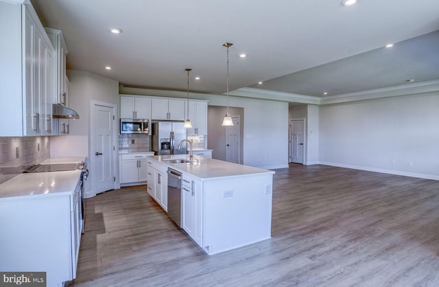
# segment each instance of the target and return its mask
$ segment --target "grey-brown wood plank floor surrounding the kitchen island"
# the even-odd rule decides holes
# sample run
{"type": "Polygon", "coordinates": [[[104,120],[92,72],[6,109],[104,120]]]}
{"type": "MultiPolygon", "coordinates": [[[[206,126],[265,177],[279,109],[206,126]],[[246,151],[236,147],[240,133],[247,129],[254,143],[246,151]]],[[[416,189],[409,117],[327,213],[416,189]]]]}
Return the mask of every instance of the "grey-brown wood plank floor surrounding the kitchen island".
{"type": "Polygon", "coordinates": [[[71,286],[439,286],[439,182],[276,170],[272,239],[209,256],[145,185],[86,199],[71,286]]]}

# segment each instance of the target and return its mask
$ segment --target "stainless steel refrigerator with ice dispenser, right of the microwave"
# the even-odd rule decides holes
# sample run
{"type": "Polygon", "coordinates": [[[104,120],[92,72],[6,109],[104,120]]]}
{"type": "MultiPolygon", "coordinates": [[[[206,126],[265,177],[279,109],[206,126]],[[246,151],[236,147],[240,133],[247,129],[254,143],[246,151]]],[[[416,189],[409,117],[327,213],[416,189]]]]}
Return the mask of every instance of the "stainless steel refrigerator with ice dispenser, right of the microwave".
{"type": "Polygon", "coordinates": [[[186,141],[178,149],[180,141],[187,137],[187,128],[183,125],[183,122],[153,122],[152,150],[154,154],[187,154],[186,141]]]}

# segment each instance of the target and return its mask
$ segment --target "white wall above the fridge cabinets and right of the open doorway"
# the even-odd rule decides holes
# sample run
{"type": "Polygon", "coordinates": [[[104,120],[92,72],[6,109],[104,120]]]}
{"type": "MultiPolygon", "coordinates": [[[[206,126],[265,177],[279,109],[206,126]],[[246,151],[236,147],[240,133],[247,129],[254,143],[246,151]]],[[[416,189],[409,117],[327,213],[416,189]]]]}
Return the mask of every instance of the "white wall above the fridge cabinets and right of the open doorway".
{"type": "MultiPolygon", "coordinates": [[[[120,93],[187,97],[187,93],[183,92],[136,88],[121,88],[120,93]]],[[[226,105],[224,95],[191,93],[190,97],[209,100],[209,105],[212,106],[226,105]]],[[[229,106],[244,108],[244,164],[266,169],[287,168],[288,103],[248,97],[229,97],[229,106]]]]}

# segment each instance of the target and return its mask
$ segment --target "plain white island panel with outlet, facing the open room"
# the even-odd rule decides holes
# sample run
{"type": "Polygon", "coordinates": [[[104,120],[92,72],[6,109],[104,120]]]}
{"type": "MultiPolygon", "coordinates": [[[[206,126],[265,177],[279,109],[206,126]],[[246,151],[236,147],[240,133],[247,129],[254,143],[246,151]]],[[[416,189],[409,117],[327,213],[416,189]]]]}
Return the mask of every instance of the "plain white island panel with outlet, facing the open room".
{"type": "Polygon", "coordinates": [[[203,202],[209,255],[271,238],[272,174],[205,181],[203,202]]]}

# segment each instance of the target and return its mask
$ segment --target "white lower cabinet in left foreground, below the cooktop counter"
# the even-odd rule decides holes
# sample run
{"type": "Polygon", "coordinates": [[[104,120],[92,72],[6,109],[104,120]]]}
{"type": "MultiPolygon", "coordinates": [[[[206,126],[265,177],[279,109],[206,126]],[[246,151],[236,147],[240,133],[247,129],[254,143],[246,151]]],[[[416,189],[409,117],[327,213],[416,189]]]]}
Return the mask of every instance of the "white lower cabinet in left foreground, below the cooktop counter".
{"type": "Polygon", "coordinates": [[[80,179],[73,194],[7,199],[0,200],[0,270],[45,271],[47,286],[75,279],[83,228],[80,179]]]}

